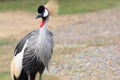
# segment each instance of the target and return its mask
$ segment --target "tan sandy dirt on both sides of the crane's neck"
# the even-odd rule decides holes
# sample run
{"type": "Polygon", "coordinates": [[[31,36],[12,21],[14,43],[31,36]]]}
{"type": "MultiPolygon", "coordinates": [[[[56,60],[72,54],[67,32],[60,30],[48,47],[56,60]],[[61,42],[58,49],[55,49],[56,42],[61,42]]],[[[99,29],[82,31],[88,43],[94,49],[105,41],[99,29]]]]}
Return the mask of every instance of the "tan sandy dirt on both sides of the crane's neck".
{"type": "MultiPolygon", "coordinates": [[[[38,29],[41,20],[35,19],[36,15],[30,15],[23,12],[0,13],[0,38],[8,36],[24,36],[26,33],[38,29]]],[[[74,17],[60,16],[50,19],[49,29],[76,22],[74,17]]]]}

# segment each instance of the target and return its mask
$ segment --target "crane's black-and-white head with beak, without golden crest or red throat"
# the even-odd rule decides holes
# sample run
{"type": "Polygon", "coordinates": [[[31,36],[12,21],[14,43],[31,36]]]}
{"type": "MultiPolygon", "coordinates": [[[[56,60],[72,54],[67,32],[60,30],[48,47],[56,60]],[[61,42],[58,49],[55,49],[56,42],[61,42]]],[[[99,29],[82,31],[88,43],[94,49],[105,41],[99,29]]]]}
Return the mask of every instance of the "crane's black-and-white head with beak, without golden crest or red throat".
{"type": "Polygon", "coordinates": [[[42,18],[43,20],[46,19],[49,16],[49,11],[46,7],[43,5],[38,7],[38,15],[36,16],[36,19],[42,18]]]}

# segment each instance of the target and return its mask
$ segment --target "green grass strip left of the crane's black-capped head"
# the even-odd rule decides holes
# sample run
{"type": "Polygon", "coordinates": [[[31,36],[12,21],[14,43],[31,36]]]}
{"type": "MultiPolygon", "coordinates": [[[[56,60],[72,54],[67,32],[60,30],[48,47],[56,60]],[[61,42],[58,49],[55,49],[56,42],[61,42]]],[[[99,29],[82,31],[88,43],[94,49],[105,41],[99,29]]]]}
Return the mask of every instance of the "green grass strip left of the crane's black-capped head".
{"type": "Polygon", "coordinates": [[[0,2],[0,11],[36,11],[46,0],[5,0],[0,2]]]}

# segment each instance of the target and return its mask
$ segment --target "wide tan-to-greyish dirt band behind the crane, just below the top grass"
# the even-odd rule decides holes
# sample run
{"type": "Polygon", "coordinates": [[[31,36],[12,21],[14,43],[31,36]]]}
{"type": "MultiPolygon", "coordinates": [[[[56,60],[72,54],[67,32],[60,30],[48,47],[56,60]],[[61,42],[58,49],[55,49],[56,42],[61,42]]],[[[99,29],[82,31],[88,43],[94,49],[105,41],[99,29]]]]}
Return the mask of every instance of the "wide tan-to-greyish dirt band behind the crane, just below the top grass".
{"type": "MultiPolygon", "coordinates": [[[[88,14],[51,17],[49,27],[59,44],[81,43],[85,40],[117,38],[120,35],[120,8],[88,14]]],[[[36,16],[36,15],[35,15],[36,16]]],[[[40,19],[23,12],[0,13],[0,38],[21,38],[39,28],[40,19]]]]}

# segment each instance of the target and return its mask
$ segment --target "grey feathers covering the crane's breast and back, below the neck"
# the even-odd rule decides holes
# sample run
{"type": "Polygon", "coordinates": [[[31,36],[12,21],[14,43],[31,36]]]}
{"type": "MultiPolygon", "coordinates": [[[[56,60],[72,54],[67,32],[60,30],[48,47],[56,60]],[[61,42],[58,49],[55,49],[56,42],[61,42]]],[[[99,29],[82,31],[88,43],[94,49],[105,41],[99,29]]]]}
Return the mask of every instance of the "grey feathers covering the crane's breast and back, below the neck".
{"type": "Polygon", "coordinates": [[[48,69],[48,63],[54,47],[52,32],[41,29],[29,33],[18,43],[15,49],[15,55],[18,51],[22,50],[22,47],[24,46],[23,44],[26,40],[28,40],[28,44],[24,52],[23,69],[25,69],[29,74],[34,71],[34,68],[32,67],[35,67],[40,63],[43,63],[48,69]]]}

